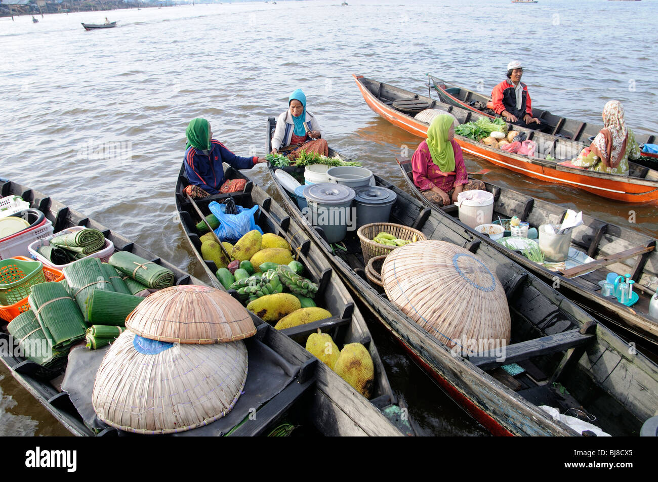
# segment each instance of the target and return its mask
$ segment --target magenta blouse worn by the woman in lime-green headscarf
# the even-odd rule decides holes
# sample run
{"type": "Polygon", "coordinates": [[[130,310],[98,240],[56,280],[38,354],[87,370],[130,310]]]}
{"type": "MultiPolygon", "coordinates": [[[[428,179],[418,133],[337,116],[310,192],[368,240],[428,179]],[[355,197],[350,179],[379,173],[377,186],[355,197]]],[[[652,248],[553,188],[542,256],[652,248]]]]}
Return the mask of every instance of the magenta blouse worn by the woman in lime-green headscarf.
{"type": "Polygon", "coordinates": [[[448,176],[443,176],[439,166],[432,161],[430,149],[427,147],[427,141],[422,141],[416,152],[411,158],[411,168],[413,170],[413,182],[421,191],[428,191],[436,186],[449,192],[453,187],[468,184],[466,166],[464,157],[461,154],[461,147],[453,139],[450,141],[455,151],[455,172],[448,176]]]}

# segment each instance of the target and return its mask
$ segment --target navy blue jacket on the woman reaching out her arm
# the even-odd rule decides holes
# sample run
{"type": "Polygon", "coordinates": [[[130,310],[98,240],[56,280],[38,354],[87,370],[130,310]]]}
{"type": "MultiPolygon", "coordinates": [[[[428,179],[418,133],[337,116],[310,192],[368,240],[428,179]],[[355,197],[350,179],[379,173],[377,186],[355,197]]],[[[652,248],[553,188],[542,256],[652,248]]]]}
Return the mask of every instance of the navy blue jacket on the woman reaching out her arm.
{"type": "Polygon", "coordinates": [[[239,157],[226,149],[220,141],[211,139],[211,143],[213,149],[208,156],[193,146],[185,151],[185,174],[190,184],[201,187],[209,194],[217,194],[224,183],[222,162],[236,169],[251,169],[258,162],[258,157],[239,157]]]}

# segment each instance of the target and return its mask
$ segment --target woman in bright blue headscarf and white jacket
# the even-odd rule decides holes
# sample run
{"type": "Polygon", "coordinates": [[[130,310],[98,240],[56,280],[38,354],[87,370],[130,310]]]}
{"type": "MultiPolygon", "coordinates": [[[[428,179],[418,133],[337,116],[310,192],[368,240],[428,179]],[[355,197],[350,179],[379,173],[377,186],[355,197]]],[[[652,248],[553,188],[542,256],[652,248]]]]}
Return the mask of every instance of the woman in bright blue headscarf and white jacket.
{"type": "Polygon", "coordinates": [[[297,157],[301,150],[328,155],[329,147],[322,137],[320,124],[311,112],[306,110],[306,96],[301,89],[295,90],[288,98],[288,110],[276,121],[272,136],[272,154],[297,157]]]}

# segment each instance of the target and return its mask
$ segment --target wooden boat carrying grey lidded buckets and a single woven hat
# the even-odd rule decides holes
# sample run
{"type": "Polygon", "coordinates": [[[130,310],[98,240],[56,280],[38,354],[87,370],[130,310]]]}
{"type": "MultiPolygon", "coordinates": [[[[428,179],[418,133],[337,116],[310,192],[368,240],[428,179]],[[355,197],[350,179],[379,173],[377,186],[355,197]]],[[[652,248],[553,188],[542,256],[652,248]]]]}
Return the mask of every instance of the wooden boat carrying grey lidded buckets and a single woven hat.
{"type": "MultiPolygon", "coordinates": [[[[267,139],[275,125],[274,118],[270,118],[267,139]]],[[[268,141],[266,149],[269,146],[268,141]]],[[[330,150],[330,155],[337,153],[330,150]]],[[[274,174],[271,167],[270,173],[274,174]]],[[[293,170],[290,173],[295,175],[293,170]]],[[[630,356],[628,345],[619,336],[523,266],[482,243],[469,229],[457,229],[447,216],[375,176],[378,185],[397,195],[390,222],[418,229],[428,239],[467,247],[495,272],[505,287],[512,318],[513,344],[507,347],[504,363],[515,362],[526,370],[513,380],[490,359],[451,354],[368,283],[361,244],[354,231],[348,231],[342,243],[347,253],[342,249],[334,253],[321,229],[311,226],[278,178],[272,175],[272,180],[291,217],[322,247],[355,296],[372,309],[444,391],[492,433],[577,435],[540,410],[538,405],[542,404],[559,406],[561,412],[578,407],[594,415],[595,423],[611,435],[637,435],[642,423],[653,416],[658,403],[658,367],[640,353],[630,356]],[[568,400],[561,398],[563,394],[555,396],[555,387],[564,387],[570,394],[568,400]]]]}

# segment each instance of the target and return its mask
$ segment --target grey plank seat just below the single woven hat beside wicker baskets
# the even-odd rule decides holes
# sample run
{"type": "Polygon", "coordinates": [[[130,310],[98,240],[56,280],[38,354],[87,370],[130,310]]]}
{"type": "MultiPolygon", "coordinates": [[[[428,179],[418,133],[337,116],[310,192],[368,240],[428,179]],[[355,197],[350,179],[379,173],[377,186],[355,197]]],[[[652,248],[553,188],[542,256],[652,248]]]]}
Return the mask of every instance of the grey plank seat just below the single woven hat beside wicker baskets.
{"type": "Polygon", "coordinates": [[[580,333],[579,329],[556,333],[542,338],[522,341],[507,345],[505,347],[505,356],[503,359],[497,359],[496,356],[469,356],[468,361],[472,362],[481,370],[491,370],[497,366],[528,360],[534,356],[555,353],[569,350],[580,345],[584,345],[594,338],[594,334],[580,333]]]}

